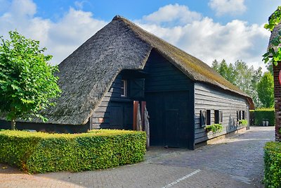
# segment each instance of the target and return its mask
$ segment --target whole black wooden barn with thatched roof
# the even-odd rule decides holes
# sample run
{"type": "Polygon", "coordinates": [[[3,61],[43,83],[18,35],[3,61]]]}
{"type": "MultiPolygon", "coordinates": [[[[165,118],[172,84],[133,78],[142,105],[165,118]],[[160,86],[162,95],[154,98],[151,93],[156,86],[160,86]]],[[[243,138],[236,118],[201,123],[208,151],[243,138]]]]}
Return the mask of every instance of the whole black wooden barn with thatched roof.
{"type": "MultiPolygon", "coordinates": [[[[195,149],[197,144],[246,129],[251,98],[198,58],[115,16],[59,65],[63,93],[57,105],[19,129],[84,132],[133,130],[133,104],[146,105],[150,143],[195,149]],[[223,125],[222,132],[205,126],[223,125]]],[[[1,121],[0,125],[7,125],[1,121]]]]}

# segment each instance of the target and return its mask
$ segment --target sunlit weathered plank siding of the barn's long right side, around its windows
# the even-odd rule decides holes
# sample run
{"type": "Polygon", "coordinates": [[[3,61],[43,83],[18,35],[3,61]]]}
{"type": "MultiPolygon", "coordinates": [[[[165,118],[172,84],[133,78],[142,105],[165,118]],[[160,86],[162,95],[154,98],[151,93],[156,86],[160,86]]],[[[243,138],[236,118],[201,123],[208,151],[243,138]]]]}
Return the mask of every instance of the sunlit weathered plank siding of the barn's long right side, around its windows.
{"type": "Polygon", "coordinates": [[[245,111],[249,122],[249,104],[242,96],[222,92],[207,84],[195,83],[195,144],[218,137],[241,128],[237,125],[237,111],[245,111]],[[200,111],[211,110],[211,124],[214,123],[214,110],[223,112],[223,131],[212,134],[200,125],[200,111]]]}

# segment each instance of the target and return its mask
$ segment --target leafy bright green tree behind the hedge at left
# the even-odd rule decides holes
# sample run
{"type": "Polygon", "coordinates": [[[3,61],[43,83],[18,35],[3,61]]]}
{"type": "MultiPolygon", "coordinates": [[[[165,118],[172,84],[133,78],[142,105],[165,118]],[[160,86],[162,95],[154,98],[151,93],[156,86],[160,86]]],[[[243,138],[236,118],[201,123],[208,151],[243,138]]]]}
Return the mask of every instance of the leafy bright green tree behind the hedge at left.
{"type": "Polygon", "coordinates": [[[9,32],[11,41],[0,37],[0,111],[15,129],[16,118],[41,118],[39,112],[54,105],[60,89],[53,73],[57,66],[47,63],[52,56],[44,56],[46,48],[18,32],[9,32]]]}

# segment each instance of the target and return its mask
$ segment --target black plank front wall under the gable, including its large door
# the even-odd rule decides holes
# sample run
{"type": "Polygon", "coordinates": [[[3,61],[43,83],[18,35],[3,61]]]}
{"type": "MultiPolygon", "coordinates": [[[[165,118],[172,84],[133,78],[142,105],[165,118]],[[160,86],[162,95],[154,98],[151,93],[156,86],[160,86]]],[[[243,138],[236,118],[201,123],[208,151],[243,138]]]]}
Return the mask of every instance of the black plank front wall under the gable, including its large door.
{"type": "Polygon", "coordinates": [[[151,144],[193,149],[193,82],[157,51],[151,52],[144,72],[151,144]]]}

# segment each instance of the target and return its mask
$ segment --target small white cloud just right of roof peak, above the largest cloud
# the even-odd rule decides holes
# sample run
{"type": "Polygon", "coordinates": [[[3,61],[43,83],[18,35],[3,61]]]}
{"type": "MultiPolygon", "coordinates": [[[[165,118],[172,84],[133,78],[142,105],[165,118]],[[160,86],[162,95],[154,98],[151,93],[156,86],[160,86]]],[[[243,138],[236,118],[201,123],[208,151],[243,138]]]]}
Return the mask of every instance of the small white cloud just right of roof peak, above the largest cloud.
{"type": "Polygon", "coordinates": [[[143,20],[151,23],[186,24],[193,20],[200,20],[201,17],[200,13],[190,11],[188,6],[169,4],[159,8],[158,11],[150,15],[143,16],[143,20]]]}

